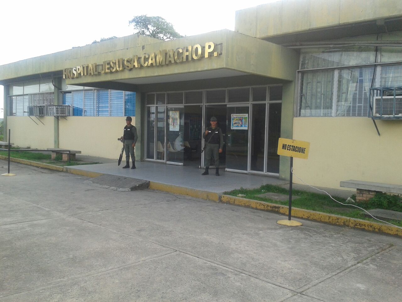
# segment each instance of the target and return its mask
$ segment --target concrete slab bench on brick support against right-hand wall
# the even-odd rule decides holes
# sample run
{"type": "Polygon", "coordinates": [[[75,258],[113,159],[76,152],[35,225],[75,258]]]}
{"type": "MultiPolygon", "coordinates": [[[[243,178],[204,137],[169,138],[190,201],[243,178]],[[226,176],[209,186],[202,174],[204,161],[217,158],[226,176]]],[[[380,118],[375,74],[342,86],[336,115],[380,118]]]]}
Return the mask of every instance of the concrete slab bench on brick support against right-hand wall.
{"type": "Polygon", "coordinates": [[[340,182],[344,188],[356,188],[356,201],[368,201],[377,192],[402,194],[402,185],[382,184],[380,182],[364,182],[361,180],[346,180],[340,182]]]}

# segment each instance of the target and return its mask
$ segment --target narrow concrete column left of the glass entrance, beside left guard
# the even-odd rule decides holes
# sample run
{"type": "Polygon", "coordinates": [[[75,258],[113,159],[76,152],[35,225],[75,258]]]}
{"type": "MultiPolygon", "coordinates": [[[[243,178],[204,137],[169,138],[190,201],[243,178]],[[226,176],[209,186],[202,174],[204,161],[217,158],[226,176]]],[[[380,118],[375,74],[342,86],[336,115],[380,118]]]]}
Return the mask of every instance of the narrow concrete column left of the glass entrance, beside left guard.
{"type": "Polygon", "coordinates": [[[144,161],[145,158],[145,99],[144,94],[135,93],[135,128],[137,128],[138,140],[135,144],[135,160],[144,161]]]}

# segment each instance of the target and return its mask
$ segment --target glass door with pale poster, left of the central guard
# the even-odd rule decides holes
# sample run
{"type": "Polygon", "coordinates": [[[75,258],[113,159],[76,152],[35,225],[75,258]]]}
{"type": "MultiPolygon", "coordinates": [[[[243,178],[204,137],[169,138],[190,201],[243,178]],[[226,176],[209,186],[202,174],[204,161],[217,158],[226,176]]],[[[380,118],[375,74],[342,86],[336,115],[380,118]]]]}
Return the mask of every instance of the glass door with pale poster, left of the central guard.
{"type": "Polygon", "coordinates": [[[168,106],[166,111],[166,163],[183,165],[184,107],[168,106]]]}

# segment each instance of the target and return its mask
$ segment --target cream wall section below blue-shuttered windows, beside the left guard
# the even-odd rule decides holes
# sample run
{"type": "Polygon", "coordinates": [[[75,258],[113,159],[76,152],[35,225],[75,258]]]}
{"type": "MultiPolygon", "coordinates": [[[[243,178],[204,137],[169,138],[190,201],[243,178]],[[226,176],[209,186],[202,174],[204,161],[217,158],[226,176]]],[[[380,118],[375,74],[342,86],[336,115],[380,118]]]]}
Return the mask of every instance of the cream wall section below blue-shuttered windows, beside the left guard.
{"type": "MultiPolygon", "coordinates": [[[[132,124],[135,124],[133,118],[132,124]]],[[[82,155],[119,158],[126,125],[124,116],[69,116],[59,121],[59,147],[81,151],[82,155]]],[[[52,138],[53,139],[53,138],[52,138]]]]}

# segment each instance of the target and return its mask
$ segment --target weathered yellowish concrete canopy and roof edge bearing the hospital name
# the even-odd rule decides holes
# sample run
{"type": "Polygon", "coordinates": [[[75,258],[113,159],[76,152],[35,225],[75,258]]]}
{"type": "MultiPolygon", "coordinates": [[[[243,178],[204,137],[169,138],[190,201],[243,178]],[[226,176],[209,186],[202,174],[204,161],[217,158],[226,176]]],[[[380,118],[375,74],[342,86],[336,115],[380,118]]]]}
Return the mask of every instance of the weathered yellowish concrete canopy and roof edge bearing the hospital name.
{"type": "Polygon", "coordinates": [[[143,85],[250,74],[293,81],[299,63],[294,50],[227,29],[170,41],[140,37],[131,35],[3,65],[0,81],[49,72],[61,72],[68,85],[88,87],[105,82],[143,85]],[[189,52],[186,60],[183,52],[189,52]]]}

